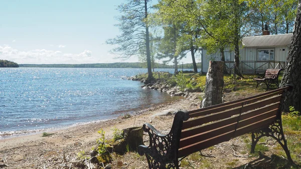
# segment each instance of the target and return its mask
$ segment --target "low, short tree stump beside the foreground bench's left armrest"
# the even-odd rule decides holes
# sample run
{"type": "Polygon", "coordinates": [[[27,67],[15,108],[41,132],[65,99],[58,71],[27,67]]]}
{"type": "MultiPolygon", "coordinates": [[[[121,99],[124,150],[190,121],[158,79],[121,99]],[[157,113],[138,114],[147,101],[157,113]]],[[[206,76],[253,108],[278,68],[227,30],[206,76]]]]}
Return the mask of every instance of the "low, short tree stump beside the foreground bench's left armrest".
{"type": "Polygon", "coordinates": [[[116,140],[113,151],[123,154],[126,151],[137,151],[137,147],[143,144],[142,127],[130,127],[122,130],[123,138],[116,140]]]}

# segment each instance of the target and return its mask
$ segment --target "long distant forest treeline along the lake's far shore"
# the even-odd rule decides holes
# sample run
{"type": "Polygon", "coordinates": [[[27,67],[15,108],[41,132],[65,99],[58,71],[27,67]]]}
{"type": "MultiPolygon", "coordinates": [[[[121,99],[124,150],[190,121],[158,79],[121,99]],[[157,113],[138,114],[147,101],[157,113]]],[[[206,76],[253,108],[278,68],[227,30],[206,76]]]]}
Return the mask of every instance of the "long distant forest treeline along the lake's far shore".
{"type": "MultiPolygon", "coordinates": [[[[146,68],[145,63],[125,62],[125,63],[93,63],[93,64],[20,64],[20,67],[41,67],[41,68],[146,68]]],[[[201,67],[201,63],[198,63],[201,67]]],[[[157,69],[172,69],[174,65],[156,63],[157,69]]],[[[182,65],[181,67],[182,68],[182,65]]],[[[193,64],[183,64],[184,69],[193,69],[193,64]]]]}

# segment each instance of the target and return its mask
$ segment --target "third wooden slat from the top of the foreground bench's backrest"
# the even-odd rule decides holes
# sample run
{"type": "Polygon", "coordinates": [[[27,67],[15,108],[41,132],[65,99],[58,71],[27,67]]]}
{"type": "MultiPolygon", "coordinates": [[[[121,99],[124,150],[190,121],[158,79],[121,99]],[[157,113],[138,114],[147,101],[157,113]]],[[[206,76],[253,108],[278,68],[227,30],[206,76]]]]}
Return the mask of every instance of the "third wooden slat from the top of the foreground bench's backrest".
{"type": "MultiPolygon", "coordinates": [[[[252,115],[258,115],[258,114],[261,114],[262,112],[266,112],[266,111],[278,108],[279,103],[280,102],[276,102],[276,103],[273,103],[269,106],[261,107],[259,109],[256,109],[253,112],[244,113],[240,116],[240,119],[244,120],[244,119],[247,119],[247,118],[251,117],[252,115]]],[[[181,138],[190,137],[190,136],[196,135],[198,133],[202,133],[202,132],[205,132],[205,131],[212,130],[214,128],[222,127],[226,124],[235,123],[235,122],[237,122],[236,117],[237,116],[229,117],[229,118],[219,120],[219,121],[216,121],[216,122],[213,122],[213,123],[208,123],[208,124],[205,124],[205,125],[201,125],[201,126],[198,126],[196,128],[190,128],[190,129],[182,130],[181,138]]]]}

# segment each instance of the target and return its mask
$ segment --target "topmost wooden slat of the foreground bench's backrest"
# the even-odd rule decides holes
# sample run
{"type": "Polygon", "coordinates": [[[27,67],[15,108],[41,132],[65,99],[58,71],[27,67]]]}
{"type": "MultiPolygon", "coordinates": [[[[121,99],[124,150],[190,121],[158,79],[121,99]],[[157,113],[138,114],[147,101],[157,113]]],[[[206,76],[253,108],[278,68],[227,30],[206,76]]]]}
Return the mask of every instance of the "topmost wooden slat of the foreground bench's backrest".
{"type": "Polygon", "coordinates": [[[240,100],[239,102],[233,102],[232,104],[227,104],[227,105],[224,105],[224,106],[221,104],[220,106],[213,107],[211,109],[209,109],[209,108],[199,109],[198,112],[190,111],[189,116],[190,116],[190,118],[193,118],[193,117],[198,117],[198,116],[201,116],[201,115],[207,115],[207,114],[211,114],[211,113],[214,113],[214,112],[223,111],[223,110],[226,110],[226,109],[241,106],[241,104],[243,104],[244,102],[253,103],[253,102],[256,102],[258,100],[263,100],[263,99],[272,97],[274,95],[281,94],[282,92],[283,92],[283,90],[274,91],[274,92],[271,92],[271,93],[268,93],[268,94],[265,94],[265,95],[252,97],[252,98],[249,98],[247,100],[242,100],[242,101],[240,100]]]}

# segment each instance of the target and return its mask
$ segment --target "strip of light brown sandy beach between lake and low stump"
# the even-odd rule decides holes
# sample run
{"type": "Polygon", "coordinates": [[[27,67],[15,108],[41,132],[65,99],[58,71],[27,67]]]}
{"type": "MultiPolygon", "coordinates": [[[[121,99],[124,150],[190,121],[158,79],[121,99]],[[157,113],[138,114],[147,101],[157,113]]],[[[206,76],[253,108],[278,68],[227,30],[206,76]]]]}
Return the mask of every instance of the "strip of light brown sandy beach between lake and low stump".
{"type": "Polygon", "coordinates": [[[4,168],[61,168],[59,161],[53,159],[65,158],[68,161],[75,161],[78,152],[89,152],[96,145],[101,128],[105,131],[105,137],[112,137],[112,128],[128,128],[142,126],[151,122],[163,133],[169,132],[173,121],[173,115],[167,112],[177,110],[196,109],[199,100],[183,98],[181,100],[157,105],[148,109],[136,112],[127,119],[112,119],[102,122],[77,125],[67,129],[51,131],[51,136],[42,137],[42,133],[13,137],[0,140],[0,163],[8,166],[4,168]],[[192,103],[196,103],[192,105],[192,103]],[[163,115],[165,114],[165,115],[163,115]]]}

